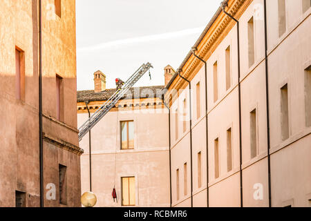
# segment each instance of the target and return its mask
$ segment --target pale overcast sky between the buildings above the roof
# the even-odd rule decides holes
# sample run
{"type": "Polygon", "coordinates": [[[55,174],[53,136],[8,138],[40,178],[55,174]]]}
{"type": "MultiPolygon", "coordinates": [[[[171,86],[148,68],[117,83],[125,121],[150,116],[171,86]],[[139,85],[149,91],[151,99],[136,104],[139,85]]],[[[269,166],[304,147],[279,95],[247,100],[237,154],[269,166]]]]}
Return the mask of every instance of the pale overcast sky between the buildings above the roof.
{"type": "Polygon", "coordinates": [[[221,0],[76,0],[77,90],[93,90],[102,70],[107,88],[126,81],[148,61],[152,79],[135,86],[164,85],[163,68],[177,69],[221,0]]]}

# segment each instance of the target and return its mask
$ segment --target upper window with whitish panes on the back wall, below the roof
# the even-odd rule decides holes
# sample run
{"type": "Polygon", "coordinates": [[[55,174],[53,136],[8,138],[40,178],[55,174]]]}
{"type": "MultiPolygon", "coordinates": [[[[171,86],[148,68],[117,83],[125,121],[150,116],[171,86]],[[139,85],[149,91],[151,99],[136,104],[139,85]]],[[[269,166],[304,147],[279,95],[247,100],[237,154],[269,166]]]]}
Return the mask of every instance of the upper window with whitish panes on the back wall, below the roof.
{"type": "Polygon", "coordinates": [[[121,149],[134,148],[134,122],[121,122],[121,149]]]}

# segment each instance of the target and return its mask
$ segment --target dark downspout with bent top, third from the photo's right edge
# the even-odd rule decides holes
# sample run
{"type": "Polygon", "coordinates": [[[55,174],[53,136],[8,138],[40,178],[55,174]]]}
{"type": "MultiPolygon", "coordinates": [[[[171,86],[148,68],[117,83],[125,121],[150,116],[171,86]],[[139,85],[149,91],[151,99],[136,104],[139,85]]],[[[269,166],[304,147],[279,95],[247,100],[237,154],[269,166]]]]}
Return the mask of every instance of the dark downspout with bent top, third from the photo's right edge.
{"type": "Polygon", "coordinates": [[[196,55],[196,51],[198,49],[195,47],[192,47],[192,54],[194,55],[194,57],[196,57],[197,59],[199,59],[200,61],[202,61],[204,63],[205,66],[205,115],[206,115],[206,168],[207,168],[207,180],[206,180],[206,185],[207,185],[207,207],[209,207],[209,133],[208,133],[208,116],[207,116],[207,62],[205,60],[203,60],[202,58],[200,58],[198,55],[196,55]]]}

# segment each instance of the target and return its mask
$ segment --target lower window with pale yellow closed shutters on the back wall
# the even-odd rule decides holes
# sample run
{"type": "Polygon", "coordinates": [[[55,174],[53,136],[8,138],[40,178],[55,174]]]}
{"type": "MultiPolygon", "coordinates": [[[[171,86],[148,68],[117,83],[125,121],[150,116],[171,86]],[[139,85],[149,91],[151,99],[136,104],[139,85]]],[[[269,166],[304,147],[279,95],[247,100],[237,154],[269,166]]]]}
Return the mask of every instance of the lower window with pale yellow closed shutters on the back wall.
{"type": "Polygon", "coordinates": [[[135,177],[122,177],[122,206],[135,206],[135,177]]]}

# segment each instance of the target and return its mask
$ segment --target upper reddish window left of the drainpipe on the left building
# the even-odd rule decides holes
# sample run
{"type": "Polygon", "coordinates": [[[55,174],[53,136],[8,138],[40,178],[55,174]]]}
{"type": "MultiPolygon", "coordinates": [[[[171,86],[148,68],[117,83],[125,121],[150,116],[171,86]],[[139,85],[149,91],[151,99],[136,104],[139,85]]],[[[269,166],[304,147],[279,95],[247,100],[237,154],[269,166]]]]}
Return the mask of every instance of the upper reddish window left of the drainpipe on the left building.
{"type": "Polygon", "coordinates": [[[24,52],[15,48],[15,88],[16,88],[16,99],[25,99],[25,58],[24,52]]]}

